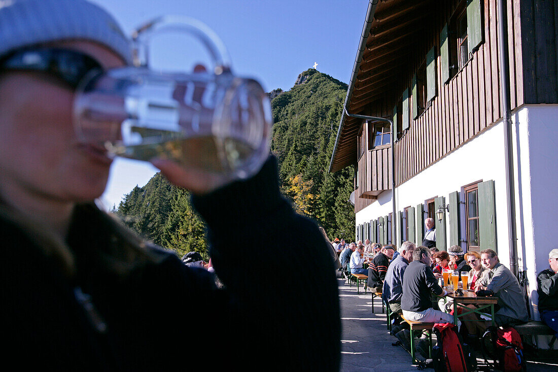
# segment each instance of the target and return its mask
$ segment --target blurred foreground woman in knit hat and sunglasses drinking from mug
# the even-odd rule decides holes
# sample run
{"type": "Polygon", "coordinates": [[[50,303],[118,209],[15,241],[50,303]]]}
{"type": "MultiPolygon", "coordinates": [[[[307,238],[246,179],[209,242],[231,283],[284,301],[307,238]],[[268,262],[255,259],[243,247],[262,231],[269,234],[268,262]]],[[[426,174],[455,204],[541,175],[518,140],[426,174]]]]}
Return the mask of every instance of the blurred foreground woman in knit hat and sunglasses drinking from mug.
{"type": "Polygon", "coordinates": [[[225,289],[97,208],[112,159],[76,141],[74,92],[93,70],[130,61],[128,39],[92,3],[0,2],[4,363],[21,370],[171,370],[184,365],[187,352],[210,361],[204,370],[338,370],[330,248],[281,197],[275,159],[253,178],[212,192],[189,170],[156,164],[197,194],[193,203],[208,225],[225,289]],[[243,236],[267,245],[246,260],[243,236]],[[300,241],[322,270],[300,282],[293,273],[304,271],[305,256],[299,245],[283,247],[283,236],[300,241]],[[218,358],[212,345],[219,345],[218,358]]]}

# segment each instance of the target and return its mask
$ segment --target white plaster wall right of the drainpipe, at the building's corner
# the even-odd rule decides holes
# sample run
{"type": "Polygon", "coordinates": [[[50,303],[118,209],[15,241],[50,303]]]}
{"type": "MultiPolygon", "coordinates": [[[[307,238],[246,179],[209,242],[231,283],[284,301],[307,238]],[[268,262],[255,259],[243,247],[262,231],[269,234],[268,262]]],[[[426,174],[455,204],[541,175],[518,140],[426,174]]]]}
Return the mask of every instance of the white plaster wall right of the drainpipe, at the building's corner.
{"type": "MultiPolygon", "coordinates": [[[[527,106],[514,119],[519,269],[527,270],[536,304],[536,277],[549,268],[549,251],[558,247],[558,105],[527,106]]],[[[536,306],[535,311],[538,319],[536,306]]]]}

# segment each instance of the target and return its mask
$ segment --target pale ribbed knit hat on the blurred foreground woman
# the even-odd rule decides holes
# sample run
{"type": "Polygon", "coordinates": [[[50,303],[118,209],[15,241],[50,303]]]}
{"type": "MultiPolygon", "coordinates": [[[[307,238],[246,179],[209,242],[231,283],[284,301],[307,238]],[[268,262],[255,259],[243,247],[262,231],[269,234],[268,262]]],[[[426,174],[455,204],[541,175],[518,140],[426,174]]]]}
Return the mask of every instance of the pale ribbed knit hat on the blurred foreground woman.
{"type": "Polygon", "coordinates": [[[104,9],[84,0],[0,0],[0,56],[57,40],[91,40],[132,61],[129,39],[104,9]]]}

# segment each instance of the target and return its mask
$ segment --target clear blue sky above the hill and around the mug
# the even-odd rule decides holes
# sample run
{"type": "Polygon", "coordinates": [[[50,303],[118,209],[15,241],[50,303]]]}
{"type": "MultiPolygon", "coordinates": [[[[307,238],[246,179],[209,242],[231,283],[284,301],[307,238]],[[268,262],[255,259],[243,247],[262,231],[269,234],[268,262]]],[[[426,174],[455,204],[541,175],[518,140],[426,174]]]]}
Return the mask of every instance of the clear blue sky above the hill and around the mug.
{"type": "MultiPolygon", "coordinates": [[[[266,91],[288,90],[297,75],[318,70],[348,83],[368,0],[90,0],[114,15],[124,31],[161,15],[182,15],[208,25],[223,40],[235,74],[256,78],[266,91]]],[[[157,70],[191,70],[210,64],[190,36],[153,39],[151,65],[157,70]]],[[[140,161],[117,159],[102,201],[118,206],[134,186],[157,170],[140,161]]]]}

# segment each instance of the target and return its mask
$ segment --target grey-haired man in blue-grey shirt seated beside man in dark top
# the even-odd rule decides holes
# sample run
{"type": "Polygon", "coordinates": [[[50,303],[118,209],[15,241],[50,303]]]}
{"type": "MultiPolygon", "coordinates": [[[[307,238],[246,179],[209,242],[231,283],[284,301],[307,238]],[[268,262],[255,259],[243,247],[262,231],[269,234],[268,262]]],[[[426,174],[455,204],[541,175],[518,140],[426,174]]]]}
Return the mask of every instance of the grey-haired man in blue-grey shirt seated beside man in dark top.
{"type": "Polygon", "coordinates": [[[403,295],[403,274],[408,264],[413,260],[416,245],[406,241],[399,249],[399,255],[393,259],[387,268],[386,278],[382,288],[382,297],[389,304],[394,313],[401,314],[401,296],[403,295]]]}

